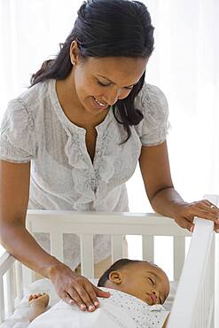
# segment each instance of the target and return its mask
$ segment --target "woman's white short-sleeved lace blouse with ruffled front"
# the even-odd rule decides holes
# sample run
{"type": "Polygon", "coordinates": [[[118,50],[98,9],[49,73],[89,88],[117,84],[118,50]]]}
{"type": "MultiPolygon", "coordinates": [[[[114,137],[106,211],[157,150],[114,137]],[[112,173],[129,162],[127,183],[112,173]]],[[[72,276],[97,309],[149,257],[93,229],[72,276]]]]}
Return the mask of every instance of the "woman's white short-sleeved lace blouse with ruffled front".
{"type": "MultiPolygon", "coordinates": [[[[144,84],[135,100],[144,119],[130,127],[129,141],[112,109],[97,127],[93,163],[85,129],[69,121],[59,104],[56,80],[36,84],[13,99],[4,113],[0,159],[31,161],[28,208],[74,211],[129,211],[125,183],[133,175],[141,146],[161,144],[168,130],[168,103],[162,91],[144,84]]],[[[46,250],[46,234],[35,234],[46,250]]],[[[73,269],[80,262],[79,238],[64,236],[64,257],[73,269]]],[[[94,238],[95,262],[110,254],[110,239],[94,238]]]]}

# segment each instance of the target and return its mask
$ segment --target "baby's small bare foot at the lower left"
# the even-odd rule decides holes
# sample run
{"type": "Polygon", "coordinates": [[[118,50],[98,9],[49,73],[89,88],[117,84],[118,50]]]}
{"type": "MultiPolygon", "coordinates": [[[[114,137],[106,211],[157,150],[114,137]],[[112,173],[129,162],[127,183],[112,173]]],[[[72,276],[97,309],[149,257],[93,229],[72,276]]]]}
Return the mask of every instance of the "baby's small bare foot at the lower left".
{"type": "Polygon", "coordinates": [[[28,319],[30,322],[35,320],[37,316],[43,314],[46,311],[46,307],[49,303],[48,293],[37,293],[29,296],[28,299],[30,310],[28,313],[28,319]]]}

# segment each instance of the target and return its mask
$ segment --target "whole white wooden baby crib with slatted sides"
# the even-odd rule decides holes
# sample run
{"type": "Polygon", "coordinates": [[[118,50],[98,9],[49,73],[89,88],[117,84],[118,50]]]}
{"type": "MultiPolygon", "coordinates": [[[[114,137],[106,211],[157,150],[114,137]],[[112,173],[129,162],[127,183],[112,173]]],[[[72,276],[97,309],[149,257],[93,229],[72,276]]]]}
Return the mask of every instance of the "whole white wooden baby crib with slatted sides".
{"type": "MultiPolygon", "coordinates": [[[[217,203],[217,199],[209,198],[217,203]]],[[[63,233],[81,237],[82,275],[93,277],[93,234],[112,235],[112,262],[122,258],[124,235],[141,235],[143,259],[153,261],[154,236],[173,236],[174,280],[179,280],[168,328],[217,328],[215,325],[215,233],[213,223],[196,219],[193,234],[157,214],[27,212],[27,229],[49,232],[51,254],[63,260],[63,233]],[[185,237],[192,236],[185,257],[185,237]]],[[[0,324],[20,303],[33,272],[7,252],[0,258],[0,324]],[[5,288],[6,286],[6,288],[5,288]],[[7,300],[7,302],[5,302],[7,300]],[[5,305],[6,304],[6,305],[5,305]]]]}

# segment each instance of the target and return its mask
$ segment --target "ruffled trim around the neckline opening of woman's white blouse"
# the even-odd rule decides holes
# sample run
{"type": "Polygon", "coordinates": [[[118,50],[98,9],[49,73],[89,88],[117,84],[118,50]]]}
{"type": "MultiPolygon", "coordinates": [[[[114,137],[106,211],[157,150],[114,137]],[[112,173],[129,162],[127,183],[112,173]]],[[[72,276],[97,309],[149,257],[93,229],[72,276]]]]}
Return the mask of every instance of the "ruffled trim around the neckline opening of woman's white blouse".
{"type": "MultiPolygon", "coordinates": [[[[119,146],[121,137],[113,121],[108,121],[108,124],[111,125],[110,134],[107,133],[104,123],[105,121],[98,126],[98,130],[102,129],[106,135],[99,137],[101,141],[98,141],[97,144],[100,144],[101,148],[95,154],[94,165],[92,165],[88,153],[82,153],[81,146],[84,143],[82,129],[78,132],[66,129],[68,139],[65,152],[68,163],[72,167],[74,190],[78,194],[78,198],[74,199],[74,208],[77,210],[82,210],[82,204],[93,202],[96,199],[105,199],[108,194],[107,184],[114,176],[114,158],[121,150],[119,146]]],[[[109,126],[107,128],[109,129],[109,126]]],[[[101,132],[99,133],[101,134],[101,132]]]]}

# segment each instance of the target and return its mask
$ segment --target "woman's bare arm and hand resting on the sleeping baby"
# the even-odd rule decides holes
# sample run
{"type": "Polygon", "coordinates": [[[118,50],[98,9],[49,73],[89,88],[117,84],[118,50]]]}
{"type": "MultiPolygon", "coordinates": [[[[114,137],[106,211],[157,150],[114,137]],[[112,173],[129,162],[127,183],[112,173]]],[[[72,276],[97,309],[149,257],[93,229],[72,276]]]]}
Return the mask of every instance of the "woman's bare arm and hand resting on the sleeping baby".
{"type": "Polygon", "coordinates": [[[92,311],[98,306],[97,296],[109,297],[110,294],[46,253],[26,229],[29,179],[30,163],[0,160],[0,242],[28,268],[49,277],[61,299],[75,302],[84,310],[92,307],[92,311]]]}

